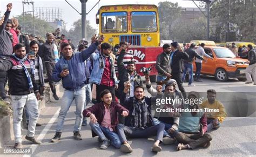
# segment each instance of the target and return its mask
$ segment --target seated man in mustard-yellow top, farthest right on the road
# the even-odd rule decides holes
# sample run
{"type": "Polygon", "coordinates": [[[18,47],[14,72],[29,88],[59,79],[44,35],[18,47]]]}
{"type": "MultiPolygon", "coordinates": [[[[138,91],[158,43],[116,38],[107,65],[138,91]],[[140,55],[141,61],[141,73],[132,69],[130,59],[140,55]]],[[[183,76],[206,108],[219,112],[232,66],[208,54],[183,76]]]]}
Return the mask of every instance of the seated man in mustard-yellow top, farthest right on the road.
{"type": "Polygon", "coordinates": [[[216,91],[215,90],[208,90],[207,91],[207,99],[205,100],[200,107],[201,108],[210,108],[210,109],[217,109],[219,112],[211,112],[206,113],[207,116],[207,127],[208,131],[211,131],[211,129],[218,129],[220,127],[220,124],[224,121],[225,117],[227,116],[227,113],[225,111],[225,107],[220,101],[215,100],[216,99],[216,91]]]}

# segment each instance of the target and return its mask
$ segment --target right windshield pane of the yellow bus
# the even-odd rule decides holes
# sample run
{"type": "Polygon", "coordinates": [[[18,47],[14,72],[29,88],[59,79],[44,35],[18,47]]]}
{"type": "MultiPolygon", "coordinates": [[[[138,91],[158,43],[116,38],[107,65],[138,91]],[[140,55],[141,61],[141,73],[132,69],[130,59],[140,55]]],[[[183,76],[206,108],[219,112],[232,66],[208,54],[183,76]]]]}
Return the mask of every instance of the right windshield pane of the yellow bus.
{"type": "Polygon", "coordinates": [[[132,32],[156,32],[157,18],[154,11],[133,11],[132,32]]]}

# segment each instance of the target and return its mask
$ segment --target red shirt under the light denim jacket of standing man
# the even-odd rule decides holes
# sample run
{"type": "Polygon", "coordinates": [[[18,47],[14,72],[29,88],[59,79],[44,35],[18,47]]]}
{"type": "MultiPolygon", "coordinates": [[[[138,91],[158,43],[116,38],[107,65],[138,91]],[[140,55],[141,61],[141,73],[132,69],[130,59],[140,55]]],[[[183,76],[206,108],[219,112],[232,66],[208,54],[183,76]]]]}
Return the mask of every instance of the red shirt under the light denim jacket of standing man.
{"type": "Polygon", "coordinates": [[[114,80],[111,78],[111,64],[109,57],[105,58],[105,67],[100,84],[110,87],[114,86],[114,80]]]}

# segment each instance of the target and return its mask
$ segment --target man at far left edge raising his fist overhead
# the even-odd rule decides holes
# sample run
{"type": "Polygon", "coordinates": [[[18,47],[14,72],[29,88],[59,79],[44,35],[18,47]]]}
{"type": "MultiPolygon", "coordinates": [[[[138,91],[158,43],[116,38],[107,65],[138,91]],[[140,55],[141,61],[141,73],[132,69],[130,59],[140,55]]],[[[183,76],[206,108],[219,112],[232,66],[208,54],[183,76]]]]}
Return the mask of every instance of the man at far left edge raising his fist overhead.
{"type": "MultiPolygon", "coordinates": [[[[4,23],[0,25],[0,62],[8,59],[12,54],[12,44],[9,37],[8,31],[5,28],[11,29],[11,24],[7,23],[12,9],[12,3],[9,3],[6,6],[7,10],[4,13],[4,23]]],[[[0,73],[0,96],[5,101],[5,103],[11,104],[10,100],[5,94],[5,85],[6,85],[6,71],[0,73]]]]}

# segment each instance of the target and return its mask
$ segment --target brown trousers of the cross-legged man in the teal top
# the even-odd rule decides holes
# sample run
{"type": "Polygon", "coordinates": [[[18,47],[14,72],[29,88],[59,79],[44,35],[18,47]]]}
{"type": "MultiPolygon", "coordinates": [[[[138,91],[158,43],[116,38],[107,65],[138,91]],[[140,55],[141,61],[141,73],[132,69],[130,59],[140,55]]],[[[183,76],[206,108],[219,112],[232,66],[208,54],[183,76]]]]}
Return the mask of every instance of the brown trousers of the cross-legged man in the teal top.
{"type": "Polygon", "coordinates": [[[178,132],[175,138],[180,143],[190,145],[191,149],[203,147],[205,144],[207,144],[212,140],[212,136],[207,133],[201,136],[199,134],[194,134],[194,133],[178,132]]]}

